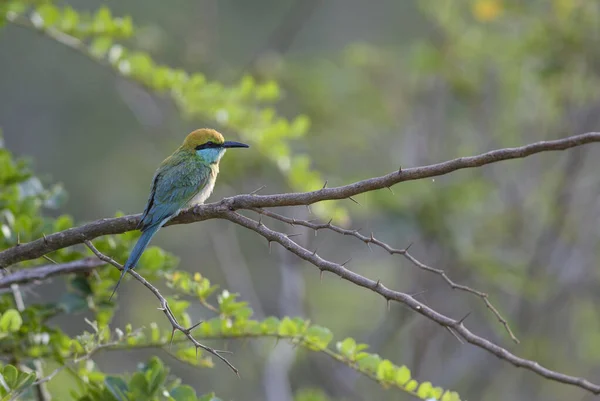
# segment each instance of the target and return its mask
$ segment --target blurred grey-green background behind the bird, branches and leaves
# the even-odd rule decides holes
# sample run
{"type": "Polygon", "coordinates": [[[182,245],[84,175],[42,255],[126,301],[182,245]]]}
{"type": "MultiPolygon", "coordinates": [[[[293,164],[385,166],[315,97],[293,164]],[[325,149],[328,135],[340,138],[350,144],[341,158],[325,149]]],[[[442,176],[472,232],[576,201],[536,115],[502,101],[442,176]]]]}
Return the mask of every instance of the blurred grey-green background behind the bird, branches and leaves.
{"type": "MultiPolygon", "coordinates": [[[[277,113],[310,121],[305,134],[285,139],[291,153],[304,155],[329,186],[600,125],[595,0],[65,4],[77,10],[107,5],[114,15],[131,15],[137,29],[128,45],[160,63],[223,85],[244,75],[276,81],[277,113]]],[[[0,71],[6,146],[31,158],[45,182],[63,185],[69,196],[60,212],[78,222],[141,212],[155,168],[194,128],[211,126],[254,143],[250,125],[233,129],[215,114],[186,115],[169,96],[18,26],[0,33],[0,71]]],[[[279,140],[228,152],[211,199],[262,185],[262,193],[308,189],[308,175],[290,178],[281,160],[266,156],[279,140]]],[[[312,211],[323,219],[336,213],[341,224],[373,231],[395,247],[413,243],[422,262],[489,293],[518,345],[480,299],[451,290],[401,257],[370,251],[353,238],[269,224],[303,233],[300,243],[331,260],[352,257],[352,270],[389,287],[422,292],[420,300],[442,313],[460,318],[470,312],[469,327],[519,356],[594,381],[600,374],[599,156],[594,145],[541,154],[402,183],[393,193],[358,196],[360,206],[345,201],[331,206],[335,212],[312,211]]],[[[315,217],[306,208],[284,212],[315,217]]],[[[373,352],[409,366],[417,379],[464,399],[593,398],[461,344],[401,305],[388,309],[367,290],[327,274],[320,281],[314,266],[276,245],[269,252],[264,239],[226,221],[164,229],[154,244],[177,255],[183,269],[240,293],[256,316],[309,318],[338,339],[369,343],[373,352]]],[[[55,299],[63,288],[54,280],[37,287],[36,297],[55,299]]],[[[127,281],[115,323],[162,321],[154,303],[142,286],[127,281]]],[[[200,305],[192,311],[195,318],[210,316],[200,305]]],[[[71,334],[85,327],[82,316],[55,324],[71,334]]],[[[225,346],[235,351],[231,359],[241,379],[223,364],[193,369],[168,361],[184,382],[223,399],[288,401],[307,388],[336,400],[410,398],[285,342],[225,346]]],[[[110,352],[98,361],[109,372],[123,372],[152,352],[110,352]]]]}

